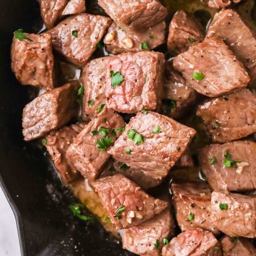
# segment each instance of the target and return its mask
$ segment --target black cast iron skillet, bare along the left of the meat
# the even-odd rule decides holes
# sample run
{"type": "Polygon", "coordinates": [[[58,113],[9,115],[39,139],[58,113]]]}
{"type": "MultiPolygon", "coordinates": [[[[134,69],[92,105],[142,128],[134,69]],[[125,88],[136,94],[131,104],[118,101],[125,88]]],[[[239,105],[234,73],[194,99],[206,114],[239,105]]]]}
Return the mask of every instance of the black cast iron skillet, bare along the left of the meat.
{"type": "Polygon", "coordinates": [[[30,87],[21,86],[11,71],[10,46],[13,31],[36,33],[42,21],[36,0],[0,0],[0,10],[0,185],[17,221],[21,255],[132,255],[100,224],[70,213],[75,199],[54,178],[43,152],[23,141],[22,109],[31,100],[30,87]]]}

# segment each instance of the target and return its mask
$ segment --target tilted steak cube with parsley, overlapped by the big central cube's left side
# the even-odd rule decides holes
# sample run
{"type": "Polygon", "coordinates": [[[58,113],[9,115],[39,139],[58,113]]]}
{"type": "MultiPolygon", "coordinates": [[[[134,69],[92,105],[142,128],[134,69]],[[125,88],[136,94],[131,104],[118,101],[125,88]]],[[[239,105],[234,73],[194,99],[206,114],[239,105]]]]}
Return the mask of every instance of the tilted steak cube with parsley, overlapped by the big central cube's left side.
{"type": "Polygon", "coordinates": [[[113,128],[123,125],[124,121],[119,114],[104,107],[67,149],[67,159],[81,175],[94,180],[110,157],[107,149],[113,146],[113,142],[121,134],[118,131],[113,133],[113,128]]]}

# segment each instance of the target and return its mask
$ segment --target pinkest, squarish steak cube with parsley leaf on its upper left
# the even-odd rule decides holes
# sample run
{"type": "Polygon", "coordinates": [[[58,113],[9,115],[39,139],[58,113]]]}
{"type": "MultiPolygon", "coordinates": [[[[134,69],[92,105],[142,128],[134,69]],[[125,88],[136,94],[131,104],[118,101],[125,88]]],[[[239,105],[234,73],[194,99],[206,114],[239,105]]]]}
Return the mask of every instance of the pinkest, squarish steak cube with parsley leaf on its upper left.
{"type": "Polygon", "coordinates": [[[106,74],[108,108],[122,113],[159,108],[163,64],[164,55],[157,52],[124,53],[113,57],[106,74]],[[119,78],[118,83],[116,77],[119,78]]]}

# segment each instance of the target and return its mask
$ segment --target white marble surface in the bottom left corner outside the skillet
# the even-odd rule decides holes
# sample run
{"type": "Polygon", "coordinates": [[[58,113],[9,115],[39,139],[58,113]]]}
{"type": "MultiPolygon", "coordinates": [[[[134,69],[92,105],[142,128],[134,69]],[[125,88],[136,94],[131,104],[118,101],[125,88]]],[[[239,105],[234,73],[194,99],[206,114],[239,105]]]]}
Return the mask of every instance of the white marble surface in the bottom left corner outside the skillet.
{"type": "Polygon", "coordinates": [[[13,211],[0,188],[0,256],[20,256],[20,244],[13,211]]]}

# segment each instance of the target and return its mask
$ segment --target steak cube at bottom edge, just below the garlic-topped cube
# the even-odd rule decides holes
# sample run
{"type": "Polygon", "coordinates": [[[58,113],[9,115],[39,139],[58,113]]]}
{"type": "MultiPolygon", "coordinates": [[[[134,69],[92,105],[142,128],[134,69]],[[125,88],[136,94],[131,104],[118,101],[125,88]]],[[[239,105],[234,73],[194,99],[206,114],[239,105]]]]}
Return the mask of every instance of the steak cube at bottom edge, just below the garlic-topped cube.
{"type": "Polygon", "coordinates": [[[165,209],[149,221],[133,226],[123,231],[123,249],[127,249],[138,255],[158,256],[161,254],[163,239],[170,239],[174,236],[175,222],[170,209],[165,209]],[[157,241],[159,246],[156,249],[154,244],[157,241]]]}

